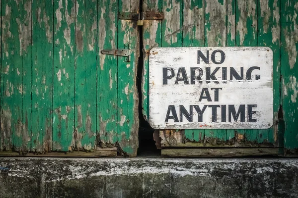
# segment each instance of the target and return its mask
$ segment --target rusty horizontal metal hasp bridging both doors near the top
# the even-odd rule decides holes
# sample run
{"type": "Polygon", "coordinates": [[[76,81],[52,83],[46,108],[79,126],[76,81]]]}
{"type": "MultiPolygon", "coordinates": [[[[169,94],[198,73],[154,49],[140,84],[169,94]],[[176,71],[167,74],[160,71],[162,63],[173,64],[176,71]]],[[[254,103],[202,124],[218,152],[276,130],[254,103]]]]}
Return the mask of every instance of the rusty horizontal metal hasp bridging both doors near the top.
{"type": "Polygon", "coordinates": [[[163,12],[119,12],[119,19],[126,20],[161,20],[163,12]]]}

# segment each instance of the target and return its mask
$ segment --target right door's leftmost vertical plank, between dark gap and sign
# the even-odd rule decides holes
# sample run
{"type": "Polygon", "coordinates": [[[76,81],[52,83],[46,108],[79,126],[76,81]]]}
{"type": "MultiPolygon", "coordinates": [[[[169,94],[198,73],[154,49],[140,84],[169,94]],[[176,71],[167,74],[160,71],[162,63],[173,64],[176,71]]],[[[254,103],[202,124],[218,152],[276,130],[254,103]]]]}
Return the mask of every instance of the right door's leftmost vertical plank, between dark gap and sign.
{"type": "MultiPolygon", "coordinates": [[[[161,0],[144,0],[144,12],[161,12],[161,0]]],[[[143,75],[142,75],[142,107],[143,116],[149,119],[149,51],[154,47],[161,47],[161,20],[144,20],[143,26],[143,52],[144,59],[143,75]]]]}

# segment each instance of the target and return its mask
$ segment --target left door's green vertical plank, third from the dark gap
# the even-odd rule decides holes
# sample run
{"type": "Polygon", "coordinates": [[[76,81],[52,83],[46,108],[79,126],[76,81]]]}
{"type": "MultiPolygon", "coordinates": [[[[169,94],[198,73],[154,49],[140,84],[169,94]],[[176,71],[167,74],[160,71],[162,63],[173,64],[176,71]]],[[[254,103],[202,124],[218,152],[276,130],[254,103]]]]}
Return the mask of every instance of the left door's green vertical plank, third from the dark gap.
{"type": "Polygon", "coordinates": [[[95,148],[97,2],[76,0],[75,149],[95,148]]]}

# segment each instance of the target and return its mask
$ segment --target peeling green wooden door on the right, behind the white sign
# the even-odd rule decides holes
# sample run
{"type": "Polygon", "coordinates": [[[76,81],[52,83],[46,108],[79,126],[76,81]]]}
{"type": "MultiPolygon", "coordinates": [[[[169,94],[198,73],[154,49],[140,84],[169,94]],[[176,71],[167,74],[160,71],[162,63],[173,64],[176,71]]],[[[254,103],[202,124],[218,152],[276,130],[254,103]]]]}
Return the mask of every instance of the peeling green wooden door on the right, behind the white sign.
{"type": "Polygon", "coordinates": [[[150,20],[144,24],[146,54],[142,103],[147,119],[150,98],[148,57],[153,47],[261,46],[270,47],[274,54],[274,124],[270,129],[160,130],[157,132],[160,140],[156,140],[161,143],[162,154],[235,156],[279,154],[282,153],[279,148],[284,145],[292,150],[298,148],[298,121],[295,121],[298,107],[298,84],[295,81],[298,67],[295,47],[298,41],[297,5],[297,1],[281,0],[269,3],[267,0],[144,0],[144,11],[164,13],[162,21],[150,20]],[[211,152],[166,149],[173,147],[229,149],[213,149],[211,152]]]}

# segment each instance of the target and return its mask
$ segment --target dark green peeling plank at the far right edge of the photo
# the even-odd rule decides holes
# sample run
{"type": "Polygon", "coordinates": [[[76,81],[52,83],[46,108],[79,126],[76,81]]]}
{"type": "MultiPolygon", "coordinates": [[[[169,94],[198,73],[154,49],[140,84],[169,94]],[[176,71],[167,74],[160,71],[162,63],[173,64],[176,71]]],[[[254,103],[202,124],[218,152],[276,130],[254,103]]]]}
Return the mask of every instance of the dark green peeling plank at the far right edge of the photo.
{"type": "Polygon", "coordinates": [[[281,0],[282,107],[285,148],[298,148],[298,0],[281,0]]]}

